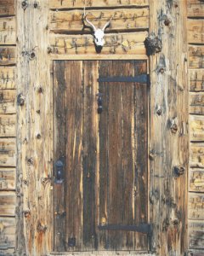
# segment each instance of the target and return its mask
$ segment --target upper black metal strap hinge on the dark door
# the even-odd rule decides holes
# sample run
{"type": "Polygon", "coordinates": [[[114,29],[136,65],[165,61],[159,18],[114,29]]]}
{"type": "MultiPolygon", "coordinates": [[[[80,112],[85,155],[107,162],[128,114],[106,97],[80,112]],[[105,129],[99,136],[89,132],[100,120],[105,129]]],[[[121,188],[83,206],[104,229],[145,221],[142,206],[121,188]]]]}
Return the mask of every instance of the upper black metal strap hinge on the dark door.
{"type": "Polygon", "coordinates": [[[140,83],[147,84],[148,75],[141,74],[135,77],[99,77],[98,82],[124,82],[124,83],[140,83]]]}

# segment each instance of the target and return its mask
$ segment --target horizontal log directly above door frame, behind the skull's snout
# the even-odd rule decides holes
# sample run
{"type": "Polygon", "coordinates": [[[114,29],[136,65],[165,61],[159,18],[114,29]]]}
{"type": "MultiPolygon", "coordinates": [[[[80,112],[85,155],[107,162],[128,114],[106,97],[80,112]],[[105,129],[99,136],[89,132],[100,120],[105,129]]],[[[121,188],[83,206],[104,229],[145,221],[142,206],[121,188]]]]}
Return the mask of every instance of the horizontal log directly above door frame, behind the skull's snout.
{"type": "MultiPolygon", "coordinates": [[[[148,32],[106,34],[101,54],[145,55],[144,39],[148,32]]],[[[92,35],[50,35],[52,55],[96,54],[92,35]]]]}

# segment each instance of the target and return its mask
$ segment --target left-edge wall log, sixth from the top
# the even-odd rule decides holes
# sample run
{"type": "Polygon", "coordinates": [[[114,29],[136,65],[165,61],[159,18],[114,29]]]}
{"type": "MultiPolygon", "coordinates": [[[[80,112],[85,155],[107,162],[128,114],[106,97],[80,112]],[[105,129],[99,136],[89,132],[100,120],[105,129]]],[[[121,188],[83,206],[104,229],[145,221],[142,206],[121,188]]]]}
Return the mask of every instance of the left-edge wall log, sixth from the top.
{"type": "Polygon", "coordinates": [[[0,137],[16,136],[16,115],[0,114],[0,137]]]}

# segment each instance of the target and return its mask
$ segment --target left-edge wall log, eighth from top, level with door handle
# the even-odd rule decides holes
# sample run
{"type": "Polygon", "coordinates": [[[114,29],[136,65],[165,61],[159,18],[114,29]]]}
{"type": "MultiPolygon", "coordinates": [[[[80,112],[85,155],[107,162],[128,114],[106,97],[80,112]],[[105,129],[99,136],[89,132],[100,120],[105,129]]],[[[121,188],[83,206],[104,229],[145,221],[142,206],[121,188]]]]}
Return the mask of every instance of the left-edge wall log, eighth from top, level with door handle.
{"type": "Polygon", "coordinates": [[[15,189],[15,168],[0,168],[0,190],[15,189]]]}

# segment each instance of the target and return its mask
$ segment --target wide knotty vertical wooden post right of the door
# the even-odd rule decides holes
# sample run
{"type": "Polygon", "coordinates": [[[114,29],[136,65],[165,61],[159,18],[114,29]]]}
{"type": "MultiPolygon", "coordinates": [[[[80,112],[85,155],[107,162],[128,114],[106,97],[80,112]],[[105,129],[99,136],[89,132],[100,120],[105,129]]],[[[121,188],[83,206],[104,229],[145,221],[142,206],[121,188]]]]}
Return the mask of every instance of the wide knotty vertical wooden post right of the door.
{"type": "Polygon", "coordinates": [[[150,1],[150,32],[163,44],[160,54],[150,56],[151,250],[157,255],[183,255],[188,249],[186,1],[150,1]],[[171,20],[168,26],[165,19],[171,20]],[[178,131],[171,130],[173,124],[178,131]],[[184,167],[180,177],[175,177],[175,166],[184,167]]]}

